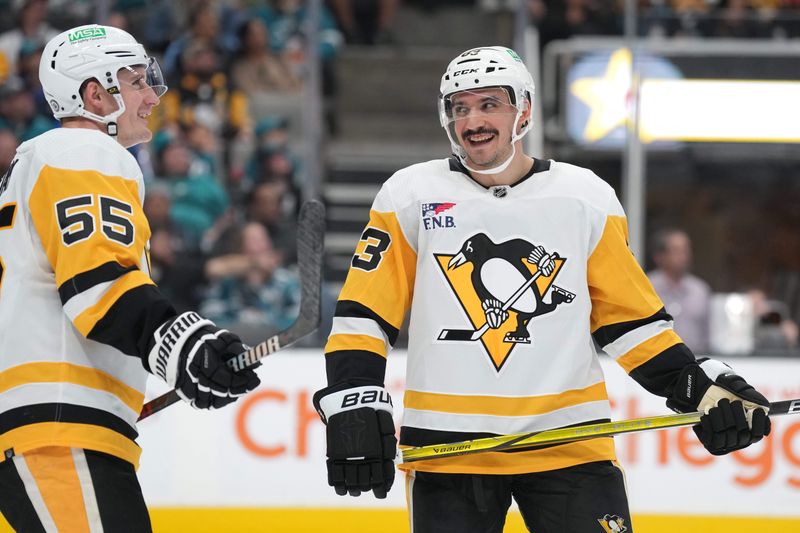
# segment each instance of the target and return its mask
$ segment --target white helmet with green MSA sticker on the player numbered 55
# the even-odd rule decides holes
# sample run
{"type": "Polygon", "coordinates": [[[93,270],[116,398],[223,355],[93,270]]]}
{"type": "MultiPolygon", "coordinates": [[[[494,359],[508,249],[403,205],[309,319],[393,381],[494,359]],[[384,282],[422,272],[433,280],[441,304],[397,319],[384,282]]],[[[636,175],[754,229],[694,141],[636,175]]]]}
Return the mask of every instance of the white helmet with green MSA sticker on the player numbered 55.
{"type": "Polygon", "coordinates": [[[39,63],[39,79],[55,118],[86,117],[108,124],[108,133],[116,135],[115,120],[125,112],[117,72],[132,66],[145,68],[147,85],[157,96],[167,91],[158,62],[131,34],[90,24],[67,30],[47,43],[39,63]],[[100,116],[86,110],[80,89],[92,79],[114,97],[116,111],[100,116]]]}

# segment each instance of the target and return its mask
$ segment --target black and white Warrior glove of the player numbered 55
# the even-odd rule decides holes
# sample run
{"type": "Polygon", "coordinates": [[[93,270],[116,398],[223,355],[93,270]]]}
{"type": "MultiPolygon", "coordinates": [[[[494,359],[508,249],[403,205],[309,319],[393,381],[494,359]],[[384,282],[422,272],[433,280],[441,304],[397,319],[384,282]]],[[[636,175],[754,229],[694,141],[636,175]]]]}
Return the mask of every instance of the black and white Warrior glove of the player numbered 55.
{"type": "Polygon", "coordinates": [[[252,367],[234,372],[226,364],[244,351],[239,337],[187,312],[153,333],[145,365],[192,407],[218,409],[261,383],[252,367]]]}

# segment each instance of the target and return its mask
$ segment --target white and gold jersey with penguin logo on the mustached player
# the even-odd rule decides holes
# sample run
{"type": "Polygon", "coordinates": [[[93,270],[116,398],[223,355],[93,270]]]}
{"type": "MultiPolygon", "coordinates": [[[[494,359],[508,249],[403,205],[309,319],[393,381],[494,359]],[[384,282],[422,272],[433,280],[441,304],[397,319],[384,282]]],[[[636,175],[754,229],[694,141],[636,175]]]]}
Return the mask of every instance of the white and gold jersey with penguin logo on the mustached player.
{"type": "MultiPolygon", "coordinates": [[[[409,309],[404,446],[608,420],[598,345],[661,395],[694,359],[627,246],[613,189],[554,161],[508,187],[483,187],[454,159],[393,175],[339,297],[329,382],[382,381],[409,309]]],[[[406,467],[513,474],[614,459],[602,438],[406,467]]]]}

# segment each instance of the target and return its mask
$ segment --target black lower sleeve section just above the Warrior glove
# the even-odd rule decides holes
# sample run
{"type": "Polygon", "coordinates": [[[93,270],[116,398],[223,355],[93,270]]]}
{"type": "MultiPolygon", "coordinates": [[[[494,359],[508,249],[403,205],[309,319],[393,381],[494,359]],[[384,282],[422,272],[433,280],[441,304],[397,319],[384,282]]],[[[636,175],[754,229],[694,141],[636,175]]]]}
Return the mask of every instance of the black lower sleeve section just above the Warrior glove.
{"type": "Polygon", "coordinates": [[[155,285],[139,285],[114,302],[88,337],[144,360],[153,332],[177,314],[155,285]]]}

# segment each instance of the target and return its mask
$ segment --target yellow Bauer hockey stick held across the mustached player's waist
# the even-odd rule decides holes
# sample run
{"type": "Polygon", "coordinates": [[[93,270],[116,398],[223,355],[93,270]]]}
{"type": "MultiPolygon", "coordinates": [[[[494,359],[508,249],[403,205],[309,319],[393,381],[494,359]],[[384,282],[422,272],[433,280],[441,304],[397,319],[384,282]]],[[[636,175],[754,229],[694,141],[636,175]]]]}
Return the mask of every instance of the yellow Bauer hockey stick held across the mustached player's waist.
{"type": "MultiPolygon", "coordinates": [[[[800,414],[800,398],[784,400],[769,404],[770,416],[800,414]]],[[[700,422],[703,413],[683,413],[674,415],[632,418],[619,422],[603,422],[586,424],[568,428],[548,429],[520,433],[518,435],[501,435],[484,439],[451,442],[448,444],[432,444],[406,448],[402,451],[404,463],[427,461],[484,452],[503,452],[522,448],[540,448],[552,444],[563,444],[597,437],[611,437],[623,433],[634,433],[650,429],[666,429],[679,426],[692,426],[700,422]]]]}

